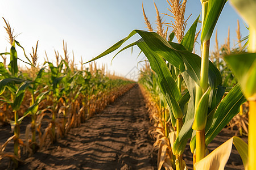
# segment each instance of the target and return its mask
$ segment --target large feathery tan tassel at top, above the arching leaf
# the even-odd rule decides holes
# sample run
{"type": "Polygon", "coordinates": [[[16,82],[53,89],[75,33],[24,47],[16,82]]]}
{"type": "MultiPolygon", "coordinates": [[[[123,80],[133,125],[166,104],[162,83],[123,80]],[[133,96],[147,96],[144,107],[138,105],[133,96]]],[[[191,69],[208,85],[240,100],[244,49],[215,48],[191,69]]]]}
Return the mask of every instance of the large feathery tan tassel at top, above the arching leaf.
{"type": "Polygon", "coordinates": [[[168,15],[168,14],[164,14],[164,15],[174,18],[175,22],[173,23],[171,21],[171,23],[164,23],[164,24],[169,25],[174,29],[174,33],[177,38],[177,41],[180,43],[184,37],[185,28],[187,26],[187,20],[191,16],[189,15],[187,20],[184,19],[187,0],[183,0],[182,3],[179,0],[166,0],[166,1],[171,7],[171,9],[170,8],[167,8],[167,9],[174,16],[168,15]]]}

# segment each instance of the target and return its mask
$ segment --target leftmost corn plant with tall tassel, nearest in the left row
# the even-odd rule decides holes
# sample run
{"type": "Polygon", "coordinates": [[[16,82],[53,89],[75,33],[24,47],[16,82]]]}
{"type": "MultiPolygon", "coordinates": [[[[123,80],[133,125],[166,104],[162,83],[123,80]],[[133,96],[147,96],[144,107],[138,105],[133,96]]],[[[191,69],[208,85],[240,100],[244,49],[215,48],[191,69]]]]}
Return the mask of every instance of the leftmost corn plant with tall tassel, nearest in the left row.
{"type": "MultiPolygon", "coordinates": [[[[19,70],[18,70],[18,55],[15,49],[15,45],[20,46],[22,49],[23,47],[19,44],[18,41],[14,40],[13,34],[11,32],[11,27],[10,24],[5,21],[6,23],[6,31],[9,33],[9,39],[11,43],[11,49],[10,53],[1,53],[0,55],[2,56],[3,54],[10,55],[10,63],[8,65],[8,70],[5,68],[5,65],[3,63],[0,63],[1,67],[1,80],[0,80],[0,94],[1,94],[1,101],[10,104],[13,114],[14,114],[14,121],[10,121],[11,128],[14,131],[14,136],[10,137],[10,139],[14,139],[14,155],[16,157],[19,157],[19,152],[20,152],[20,145],[24,145],[22,140],[19,138],[20,135],[20,130],[19,130],[19,125],[21,123],[21,120],[19,120],[19,114],[18,111],[20,109],[20,105],[22,104],[23,98],[24,98],[24,93],[26,91],[26,88],[29,86],[31,83],[30,80],[22,79],[20,78],[19,70]],[[17,86],[18,85],[18,86],[17,86]],[[10,95],[3,95],[3,92],[9,91],[10,95]]],[[[23,49],[24,50],[24,49],[23,49]]],[[[24,53],[25,54],[25,53],[24,53]]],[[[26,56],[26,54],[25,54],[26,56]]],[[[28,57],[26,56],[28,59],[28,57]]],[[[30,62],[30,60],[28,59],[30,62]]],[[[31,62],[30,62],[31,64],[31,62]]],[[[3,151],[3,148],[2,148],[3,151]]],[[[16,159],[13,159],[15,163],[15,167],[18,167],[18,161],[16,159]]]]}

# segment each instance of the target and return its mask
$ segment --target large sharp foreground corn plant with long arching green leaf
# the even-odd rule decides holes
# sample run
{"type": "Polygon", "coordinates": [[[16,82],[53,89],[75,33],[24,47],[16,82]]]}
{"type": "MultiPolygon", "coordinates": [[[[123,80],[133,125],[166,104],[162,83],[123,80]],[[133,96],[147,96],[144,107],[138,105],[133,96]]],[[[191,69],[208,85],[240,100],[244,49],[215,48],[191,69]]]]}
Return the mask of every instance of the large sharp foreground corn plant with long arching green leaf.
{"type": "MultiPolygon", "coordinates": [[[[137,45],[145,54],[150,62],[151,69],[156,73],[159,88],[163,95],[166,96],[172,114],[176,119],[181,118],[181,120],[184,120],[182,128],[178,130],[179,133],[172,133],[170,137],[172,151],[176,158],[179,158],[184,151],[188,138],[192,138],[191,151],[195,155],[195,168],[197,169],[200,169],[199,167],[201,166],[204,167],[205,164],[208,164],[208,168],[209,165],[213,164],[218,164],[220,167],[225,166],[225,160],[228,158],[222,159],[221,154],[217,154],[218,160],[224,160],[224,163],[214,163],[213,159],[209,159],[217,153],[218,149],[208,155],[206,159],[203,159],[206,151],[205,146],[208,146],[221,129],[238,113],[240,105],[245,101],[245,97],[243,97],[238,85],[233,87],[222,100],[225,87],[220,86],[222,83],[220,71],[208,59],[209,40],[226,1],[209,0],[201,2],[203,19],[201,33],[202,57],[191,53],[195,38],[196,21],[180,44],[167,41],[154,32],[134,30],[125,39],[118,41],[104,53],[91,60],[94,61],[118,49],[123,42],[130,39],[135,33],[141,36],[141,39],[127,45],[119,52],[137,45]],[[183,76],[190,96],[187,113],[181,111],[182,107],[178,102],[181,99],[179,86],[177,87],[174,76],[168,69],[164,59],[183,76]]],[[[176,126],[179,126],[179,124],[176,123],[176,126]]],[[[241,151],[246,150],[246,144],[238,138],[232,138],[230,141],[228,141],[229,145],[234,143],[245,164],[246,155],[243,155],[241,151]]],[[[227,155],[230,154],[230,151],[227,152],[227,155]]],[[[185,168],[181,160],[177,159],[176,169],[185,168]]],[[[205,168],[208,169],[207,167],[205,168]]]]}

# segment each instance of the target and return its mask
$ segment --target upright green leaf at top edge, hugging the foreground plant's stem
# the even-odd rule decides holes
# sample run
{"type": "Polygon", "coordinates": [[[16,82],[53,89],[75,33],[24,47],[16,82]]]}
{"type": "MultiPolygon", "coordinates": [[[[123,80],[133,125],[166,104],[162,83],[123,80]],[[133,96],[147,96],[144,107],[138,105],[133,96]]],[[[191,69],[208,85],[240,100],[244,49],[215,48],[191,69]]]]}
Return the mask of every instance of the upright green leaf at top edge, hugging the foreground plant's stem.
{"type": "Polygon", "coordinates": [[[226,0],[209,0],[207,15],[205,16],[201,32],[201,42],[207,41],[212,36],[218,17],[226,3],[226,0]]]}

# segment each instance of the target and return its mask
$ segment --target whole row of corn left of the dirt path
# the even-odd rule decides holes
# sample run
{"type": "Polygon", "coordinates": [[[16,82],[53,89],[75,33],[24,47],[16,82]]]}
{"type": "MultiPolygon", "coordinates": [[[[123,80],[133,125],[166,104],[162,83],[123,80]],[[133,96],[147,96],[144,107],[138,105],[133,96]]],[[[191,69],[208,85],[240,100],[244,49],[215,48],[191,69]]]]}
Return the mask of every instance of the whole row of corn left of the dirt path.
{"type": "MultiPolygon", "coordinates": [[[[6,21],[5,21],[6,22],[6,21]]],[[[10,52],[1,56],[10,57],[9,65],[0,62],[0,104],[3,122],[9,123],[14,135],[0,147],[0,160],[9,157],[17,168],[22,162],[20,146],[31,155],[39,148],[64,137],[71,128],[78,127],[94,113],[99,113],[118,96],[134,86],[130,80],[110,79],[104,70],[90,64],[89,69],[74,69],[68,61],[67,44],[64,44],[64,58],[56,65],[46,61],[42,68],[36,65],[38,42],[32,48],[31,58],[15,40],[10,24],[6,22],[9,34],[10,52]],[[27,61],[22,61],[16,48],[22,48],[27,61]],[[28,65],[22,71],[18,59],[28,65]],[[20,138],[20,124],[30,117],[26,128],[26,139],[20,138]],[[42,128],[42,122],[47,122],[42,128]],[[14,141],[14,152],[6,152],[10,141],[14,141]]],[[[58,58],[59,53],[56,53],[58,58]]],[[[5,60],[6,61],[6,60],[5,60]]],[[[82,66],[81,66],[82,67],[82,66]]],[[[24,153],[23,153],[24,154],[24,153]]]]}

